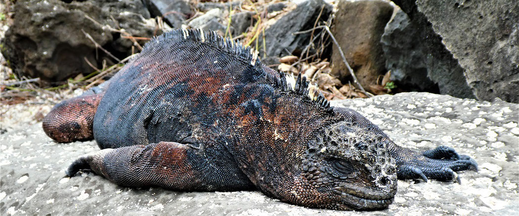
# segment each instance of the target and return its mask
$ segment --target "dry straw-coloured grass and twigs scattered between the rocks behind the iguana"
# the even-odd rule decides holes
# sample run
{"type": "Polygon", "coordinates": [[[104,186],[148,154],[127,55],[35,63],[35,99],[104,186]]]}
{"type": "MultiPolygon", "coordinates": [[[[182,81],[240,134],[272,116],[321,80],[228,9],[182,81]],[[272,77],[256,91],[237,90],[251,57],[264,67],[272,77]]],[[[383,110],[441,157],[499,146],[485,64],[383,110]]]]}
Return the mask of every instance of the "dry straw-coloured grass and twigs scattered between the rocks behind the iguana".
{"type": "MultiPolygon", "coordinates": [[[[216,1],[195,1],[194,4],[200,2],[216,2],[216,1]]],[[[227,1],[217,1],[217,2],[227,2],[227,1]]],[[[274,1],[244,1],[241,6],[238,8],[228,8],[225,10],[224,18],[227,23],[227,30],[222,33],[224,36],[239,39],[243,46],[251,46],[256,49],[264,49],[268,46],[265,41],[264,33],[265,29],[275,23],[280,17],[282,17],[286,12],[291,11],[295,8],[295,4],[289,3],[289,7],[286,7],[282,11],[276,11],[268,13],[266,10],[266,5],[270,3],[281,2],[279,0],[274,1]],[[240,35],[233,35],[230,31],[230,22],[232,15],[242,11],[252,11],[254,13],[253,18],[256,22],[252,23],[249,26],[248,30],[240,35]]],[[[323,8],[322,8],[323,9],[323,8]]],[[[321,9],[321,13],[322,13],[321,9]]],[[[345,98],[357,98],[357,97],[369,97],[370,93],[367,93],[360,84],[354,78],[354,73],[351,70],[350,74],[352,75],[353,84],[352,83],[341,83],[338,77],[333,77],[330,75],[331,67],[330,63],[327,59],[322,59],[323,52],[327,46],[331,45],[331,35],[330,31],[316,31],[316,30],[329,30],[329,27],[333,20],[333,15],[330,18],[323,22],[318,22],[319,18],[313,25],[313,28],[305,31],[311,32],[310,40],[308,45],[303,49],[303,52],[299,56],[288,56],[281,58],[281,62],[278,66],[278,69],[281,71],[286,71],[290,73],[302,74],[306,76],[308,80],[311,82],[315,82],[318,84],[322,93],[326,96],[327,99],[345,99],[345,98]],[[322,29],[320,29],[322,28],[322,29]],[[316,46],[317,45],[317,46],[316,46]],[[310,50],[315,50],[315,52],[310,52],[310,50]]],[[[198,16],[203,15],[203,12],[196,11],[195,15],[192,18],[196,18],[198,16]]],[[[101,25],[97,21],[93,20],[90,17],[86,17],[92,22],[101,25]]],[[[170,30],[167,24],[162,21],[162,17],[155,18],[156,22],[156,32],[158,30],[168,31],[170,30]]],[[[7,23],[7,21],[6,21],[7,23]]],[[[121,34],[122,38],[128,39],[133,42],[132,53],[136,53],[142,50],[142,47],[139,45],[139,41],[141,40],[149,40],[151,38],[148,37],[140,37],[138,35],[133,36],[127,33],[124,30],[121,30],[118,26],[107,26],[104,25],[113,32],[117,32],[121,34]]],[[[301,32],[299,32],[301,33],[301,32]]],[[[298,33],[295,33],[298,34],[298,33]]],[[[94,72],[84,75],[78,75],[74,78],[70,78],[60,85],[43,88],[44,85],[39,81],[39,79],[30,79],[26,77],[17,77],[12,71],[7,68],[6,61],[1,58],[0,64],[0,75],[1,81],[0,84],[0,103],[2,105],[8,104],[18,104],[23,103],[27,99],[35,98],[39,96],[40,98],[50,98],[52,101],[58,102],[63,97],[67,97],[66,95],[70,95],[76,89],[88,89],[93,87],[94,85],[98,85],[107,78],[113,76],[117,71],[119,71],[125,63],[131,59],[132,56],[126,57],[125,59],[119,60],[117,57],[112,55],[109,51],[103,49],[103,47],[99,46],[97,42],[90,37],[87,33],[85,33],[85,37],[89,38],[96,47],[105,52],[108,56],[111,56],[114,59],[114,62],[117,62],[115,65],[106,65],[104,62],[102,68],[94,67],[93,64],[88,62],[87,59],[85,61],[93,68],[94,72]]],[[[338,46],[338,45],[336,45],[338,46]]],[[[340,50],[340,47],[338,47],[340,50]]],[[[265,56],[262,56],[265,57],[265,56]]],[[[343,58],[344,61],[346,59],[343,58]]],[[[345,62],[346,65],[347,62],[345,62]]],[[[276,66],[276,65],[274,65],[276,66]]],[[[383,94],[390,92],[390,89],[386,88],[386,84],[390,83],[388,77],[384,77],[384,80],[377,85],[373,85],[370,87],[372,92],[377,94],[383,94]],[[389,91],[388,91],[389,90],[389,91]]]]}

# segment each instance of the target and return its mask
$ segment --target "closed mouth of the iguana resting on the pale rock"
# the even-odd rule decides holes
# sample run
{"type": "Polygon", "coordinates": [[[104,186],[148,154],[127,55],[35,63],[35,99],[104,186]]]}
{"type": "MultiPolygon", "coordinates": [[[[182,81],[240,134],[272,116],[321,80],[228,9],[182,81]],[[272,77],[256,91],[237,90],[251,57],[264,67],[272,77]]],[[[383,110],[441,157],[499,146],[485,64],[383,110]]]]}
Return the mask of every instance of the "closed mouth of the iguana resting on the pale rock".
{"type": "Polygon", "coordinates": [[[340,192],[340,197],[345,205],[353,209],[383,209],[393,203],[394,192],[383,193],[370,189],[353,190],[348,188],[336,187],[336,192],[340,192]],[[364,192],[363,192],[364,191],[364,192]]]}

